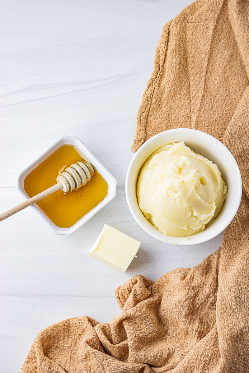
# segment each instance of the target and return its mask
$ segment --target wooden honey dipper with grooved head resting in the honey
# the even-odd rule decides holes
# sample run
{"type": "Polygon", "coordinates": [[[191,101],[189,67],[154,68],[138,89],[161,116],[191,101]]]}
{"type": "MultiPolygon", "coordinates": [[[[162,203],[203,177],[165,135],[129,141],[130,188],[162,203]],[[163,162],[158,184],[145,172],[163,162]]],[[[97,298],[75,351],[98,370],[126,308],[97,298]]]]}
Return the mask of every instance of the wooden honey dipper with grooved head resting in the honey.
{"type": "Polygon", "coordinates": [[[62,189],[64,193],[68,192],[69,190],[79,189],[81,186],[87,184],[94,174],[93,166],[86,161],[79,161],[72,163],[69,167],[65,167],[66,164],[59,170],[59,175],[56,178],[57,184],[0,214],[0,221],[17,213],[18,211],[25,209],[28,206],[31,206],[32,204],[42,200],[59,189],[62,189]]]}

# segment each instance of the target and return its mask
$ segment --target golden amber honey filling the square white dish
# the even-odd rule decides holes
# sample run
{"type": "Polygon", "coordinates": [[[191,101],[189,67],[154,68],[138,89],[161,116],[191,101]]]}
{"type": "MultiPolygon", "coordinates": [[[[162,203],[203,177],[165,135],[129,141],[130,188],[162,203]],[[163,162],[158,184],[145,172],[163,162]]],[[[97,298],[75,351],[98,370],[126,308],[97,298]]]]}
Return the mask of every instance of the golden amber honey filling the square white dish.
{"type": "MultiPolygon", "coordinates": [[[[80,150],[73,145],[62,145],[34,170],[24,180],[24,189],[29,197],[44,191],[56,184],[56,177],[63,165],[84,160],[80,150]]],[[[85,214],[97,206],[108,193],[108,184],[96,168],[91,180],[78,190],[63,194],[59,191],[50,194],[36,204],[60,228],[69,228],[85,214]]]]}

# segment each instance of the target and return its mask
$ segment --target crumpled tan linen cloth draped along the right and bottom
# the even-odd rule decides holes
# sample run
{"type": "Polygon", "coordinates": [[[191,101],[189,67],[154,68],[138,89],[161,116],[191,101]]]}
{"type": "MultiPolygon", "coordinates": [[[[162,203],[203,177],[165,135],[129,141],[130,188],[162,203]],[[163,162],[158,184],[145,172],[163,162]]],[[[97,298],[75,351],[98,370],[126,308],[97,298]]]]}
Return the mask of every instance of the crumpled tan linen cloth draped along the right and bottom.
{"type": "Polygon", "coordinates": [[[133,150],[170,128],[217,137],[242,173],[239,210],[198,266],[119,287],[111,323],[82,316],[41,331],[22,373],[249,372],[248,76],[249,1],[196,1],[165,25],[133,150]]]}

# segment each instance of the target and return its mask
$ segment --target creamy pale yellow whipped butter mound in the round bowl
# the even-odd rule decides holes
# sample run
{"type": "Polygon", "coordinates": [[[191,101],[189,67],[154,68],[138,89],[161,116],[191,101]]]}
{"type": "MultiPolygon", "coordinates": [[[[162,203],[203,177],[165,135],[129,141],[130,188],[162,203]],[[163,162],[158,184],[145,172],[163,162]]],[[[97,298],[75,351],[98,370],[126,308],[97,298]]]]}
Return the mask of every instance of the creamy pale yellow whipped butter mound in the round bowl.
{"type": "Polygon", "coordinates": [[[138,205],[167,236],[192,236],[220,212],[227,186],[216,166],[184,141],[164,145],[143,164],[137,180],[138,205]]]}

